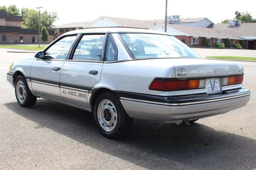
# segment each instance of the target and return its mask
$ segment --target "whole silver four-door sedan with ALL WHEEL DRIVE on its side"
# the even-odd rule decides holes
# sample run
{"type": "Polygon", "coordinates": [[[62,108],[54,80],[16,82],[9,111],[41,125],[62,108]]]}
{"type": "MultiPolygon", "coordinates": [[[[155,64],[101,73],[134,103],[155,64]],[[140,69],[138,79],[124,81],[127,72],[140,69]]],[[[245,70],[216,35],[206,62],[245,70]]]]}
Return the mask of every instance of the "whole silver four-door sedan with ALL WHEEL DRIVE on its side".
{"type": "Polygon", "coordinates": [[[203,59],[164,32],[95,28],[15,60],[7,79],[21,106],[40,97],[91,111],[104,136],[119,138],[133,118],[189,124],[245,106],[243,74],[242,64],[203,59]]]}

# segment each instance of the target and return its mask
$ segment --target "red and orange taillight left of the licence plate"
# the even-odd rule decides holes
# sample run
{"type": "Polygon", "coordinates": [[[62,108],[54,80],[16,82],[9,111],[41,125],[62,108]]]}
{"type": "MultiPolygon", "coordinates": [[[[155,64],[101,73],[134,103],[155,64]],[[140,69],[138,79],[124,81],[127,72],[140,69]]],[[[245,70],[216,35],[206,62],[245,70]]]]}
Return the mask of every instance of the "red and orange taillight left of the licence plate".
{"type": "Polygon", "coordinates": [[[177,90],[190,90],[198,89],[200,80],[153,80],[149,86],[150,90],[155,91],[177,91],[177,90]]]}

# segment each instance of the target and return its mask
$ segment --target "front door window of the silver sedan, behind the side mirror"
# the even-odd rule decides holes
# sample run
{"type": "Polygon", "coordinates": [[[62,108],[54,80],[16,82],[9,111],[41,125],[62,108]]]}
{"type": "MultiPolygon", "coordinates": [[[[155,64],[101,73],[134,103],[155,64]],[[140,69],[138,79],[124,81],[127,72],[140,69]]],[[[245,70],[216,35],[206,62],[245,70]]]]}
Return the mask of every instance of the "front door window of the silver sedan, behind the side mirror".
{"type": "Polygon", "coordinates": [[[66,59],[69,48],[73,44],[75,36],[67,36],[54,43],[50,48],[45,51],[46,59],[66,59]]]}

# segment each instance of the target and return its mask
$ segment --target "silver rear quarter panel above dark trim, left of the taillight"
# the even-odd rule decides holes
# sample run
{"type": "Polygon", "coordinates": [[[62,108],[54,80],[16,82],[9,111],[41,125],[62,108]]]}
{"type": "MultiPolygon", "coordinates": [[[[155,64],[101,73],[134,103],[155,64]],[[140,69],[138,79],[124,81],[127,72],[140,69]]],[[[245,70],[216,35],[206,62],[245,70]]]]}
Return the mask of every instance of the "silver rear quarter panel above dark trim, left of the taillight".
{"type": "Polygon", "coordinates": [[[174,67],[155,59],[104,63],[100,82],[94,87],[149,94],[155,77],[175,77],[174,67]]]}

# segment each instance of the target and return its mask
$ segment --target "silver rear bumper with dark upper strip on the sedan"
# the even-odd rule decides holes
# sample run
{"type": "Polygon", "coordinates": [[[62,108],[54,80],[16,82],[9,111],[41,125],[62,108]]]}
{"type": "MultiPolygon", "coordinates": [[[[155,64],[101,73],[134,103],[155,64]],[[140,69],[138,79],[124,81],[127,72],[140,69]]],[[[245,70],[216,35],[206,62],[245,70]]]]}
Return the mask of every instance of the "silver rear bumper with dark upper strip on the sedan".
{"type": "MultiPolygon", "coordinates": [[[[159,96],[158,100],[160,100],[159,96]]],[[[179,122],[219,115],[241,108],[250,100],[250,91],[242,88],[221,94],[178,96],[171,99],[167,97],[163,100],[166,102],[120,96],[123,108],[130,117],[179,122]]]]}

